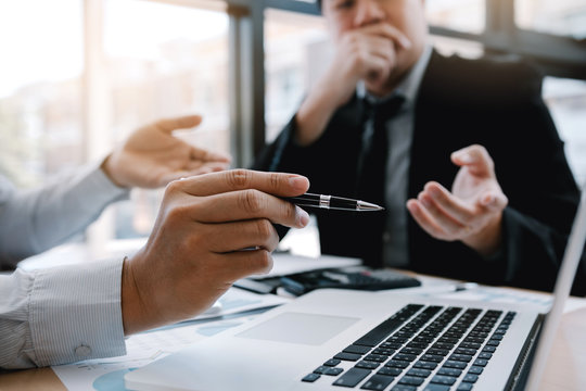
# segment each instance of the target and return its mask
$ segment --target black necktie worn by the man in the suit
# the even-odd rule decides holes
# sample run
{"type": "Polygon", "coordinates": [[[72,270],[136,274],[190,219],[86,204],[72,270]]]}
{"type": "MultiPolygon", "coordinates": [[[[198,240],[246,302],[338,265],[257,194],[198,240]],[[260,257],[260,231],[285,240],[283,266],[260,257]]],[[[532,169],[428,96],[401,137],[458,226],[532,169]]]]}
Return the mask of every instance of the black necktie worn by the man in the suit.
{"type": "Polygon", "coordinates": [[[360,199],[384,205],[386,159],[388,138],[386,123],[400,110],[405,98],[394,94],[384,101],[372,104],[366,99],[365,127],[360,161],[358,162],[357,194],[360,199]]]}

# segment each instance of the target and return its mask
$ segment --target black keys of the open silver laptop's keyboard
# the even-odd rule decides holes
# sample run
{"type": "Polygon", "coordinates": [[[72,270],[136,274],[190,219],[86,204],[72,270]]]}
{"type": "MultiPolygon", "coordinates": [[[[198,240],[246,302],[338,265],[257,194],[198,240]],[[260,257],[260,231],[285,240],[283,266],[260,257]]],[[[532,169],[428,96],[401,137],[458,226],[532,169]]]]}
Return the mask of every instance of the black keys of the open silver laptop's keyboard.
{"type": "Polygon", "coordinates": [[[327,377],[333,386],[362,390],[473,390],[514,316],[409,304],[302,381],[327,377]],[[342,362],[355,364],[345,370],[342,362]]]}

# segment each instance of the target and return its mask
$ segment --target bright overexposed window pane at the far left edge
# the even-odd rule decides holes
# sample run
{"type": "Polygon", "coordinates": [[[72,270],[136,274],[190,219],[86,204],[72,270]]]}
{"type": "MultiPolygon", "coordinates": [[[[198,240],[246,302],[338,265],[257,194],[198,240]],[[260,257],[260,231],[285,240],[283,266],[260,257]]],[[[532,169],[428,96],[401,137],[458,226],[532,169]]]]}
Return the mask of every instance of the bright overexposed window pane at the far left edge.
{"type": "Polygon", "coordinates": [[[80,0],[0,2],[0,173],[17,186],[84,160],[81,16],[80,0]]]}

